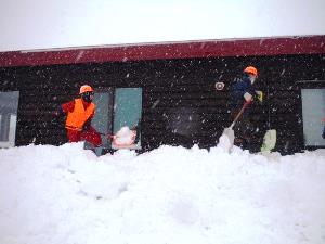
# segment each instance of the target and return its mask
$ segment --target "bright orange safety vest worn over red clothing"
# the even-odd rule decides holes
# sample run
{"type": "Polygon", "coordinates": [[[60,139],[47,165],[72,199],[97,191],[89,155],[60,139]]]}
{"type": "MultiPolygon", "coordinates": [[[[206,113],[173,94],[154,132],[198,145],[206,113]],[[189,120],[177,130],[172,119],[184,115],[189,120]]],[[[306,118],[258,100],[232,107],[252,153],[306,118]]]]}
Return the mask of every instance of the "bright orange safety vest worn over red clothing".
{"type": "Polygon", "coordinates": [[[94,111],[94,103],[90,103],[84,110],[81,99],[75,99],[75,108],[73,112],[68,112],[65,128],[81,131],[83,124],[91,117],[94,111]]]}

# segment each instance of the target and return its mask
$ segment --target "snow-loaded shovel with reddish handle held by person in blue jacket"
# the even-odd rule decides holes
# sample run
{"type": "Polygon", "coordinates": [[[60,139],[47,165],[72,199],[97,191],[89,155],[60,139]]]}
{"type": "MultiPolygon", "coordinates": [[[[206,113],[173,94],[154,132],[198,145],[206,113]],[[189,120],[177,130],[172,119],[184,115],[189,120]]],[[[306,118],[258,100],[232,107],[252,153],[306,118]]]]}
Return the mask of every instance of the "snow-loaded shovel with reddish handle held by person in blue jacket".
{"type": "Polygon", "coordinates": [[[236,115],[235,119],[233,120],[232,125],[227,128],[224,128],[222,136],[219,138],[218,146],[222,147],[225,152],[229,152],[235,141],[235,132],[233,130],[233,127],[235,126],[236,121],[239,119],[239,117],[243,115],[245,108],[249,105],[249,102],[244,103],[242,110],[236,115]]]}

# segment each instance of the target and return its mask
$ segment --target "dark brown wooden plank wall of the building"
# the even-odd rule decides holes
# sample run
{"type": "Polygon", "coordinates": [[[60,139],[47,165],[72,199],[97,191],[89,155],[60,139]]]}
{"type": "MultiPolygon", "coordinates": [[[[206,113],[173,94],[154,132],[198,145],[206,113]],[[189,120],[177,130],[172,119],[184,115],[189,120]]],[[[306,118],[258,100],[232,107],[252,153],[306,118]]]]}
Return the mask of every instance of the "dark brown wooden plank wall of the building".
{"type": "Polygon", "coordinates": [[[21,91],[17,145],[66,142],[64,119],[51,112],[74,99],[87,82],[94,88],[143,88],[145,150],[160,144],[210,147],[230,126],[227,89],[247,65],[259,69],[257,89],[265,93],[264,103],[252,110],[259,127],[256,149],[270,121],[278,133],[277,151],[300,151],[303,134],[297,81],[325,80],[321,54],[5,67],[0,68],[0,90],[21,91]],[[225,82],[225,89],[217,92],[216,81],[225,82]]]}

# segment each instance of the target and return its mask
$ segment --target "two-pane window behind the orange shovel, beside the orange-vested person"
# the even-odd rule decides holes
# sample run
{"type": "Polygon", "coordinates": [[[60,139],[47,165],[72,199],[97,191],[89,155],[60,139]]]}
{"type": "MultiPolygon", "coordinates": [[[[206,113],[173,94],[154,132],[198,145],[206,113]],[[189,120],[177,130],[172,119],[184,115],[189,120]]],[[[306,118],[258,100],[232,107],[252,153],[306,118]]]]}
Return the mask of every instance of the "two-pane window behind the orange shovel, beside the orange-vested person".
{"type": "MultiPolygon", "coordinates": [[[[127,126],[136,130],[135,145],[132,149],[141,149],[142,88],[96,90],[94,103],[96,112],[92,126],[99,132],[115,134],[127,126]]],[[[105,149],[112,147],[110,140],[104,136],[102,140],[105,149]]]]}

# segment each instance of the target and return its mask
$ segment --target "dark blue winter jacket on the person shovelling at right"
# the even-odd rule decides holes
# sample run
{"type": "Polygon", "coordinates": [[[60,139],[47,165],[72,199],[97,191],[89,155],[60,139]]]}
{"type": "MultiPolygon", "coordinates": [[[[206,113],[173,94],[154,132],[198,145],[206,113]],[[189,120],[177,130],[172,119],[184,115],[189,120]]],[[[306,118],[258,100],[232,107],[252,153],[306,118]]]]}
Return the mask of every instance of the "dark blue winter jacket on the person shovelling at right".
{"type": "Polygon", "coordinates": [[[251,86],[248,75],[244,75],[242,79],[237,79],[231,87],[231,108],[240,110],[245,103],[244,94],[248,92],[252,97],[256,91],[251,86]]]}

